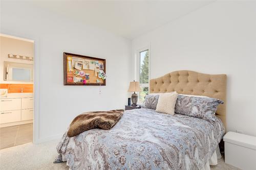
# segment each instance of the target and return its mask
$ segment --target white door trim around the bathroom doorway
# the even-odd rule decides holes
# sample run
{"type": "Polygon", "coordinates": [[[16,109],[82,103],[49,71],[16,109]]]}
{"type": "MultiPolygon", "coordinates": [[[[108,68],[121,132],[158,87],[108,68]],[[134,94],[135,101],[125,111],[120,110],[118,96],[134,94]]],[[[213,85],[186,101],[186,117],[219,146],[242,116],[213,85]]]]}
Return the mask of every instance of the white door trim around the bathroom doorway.
{"type": "Polygon", "coordinates": [[[34,43],[34,124],[33,124],[33,143],[39,143],[39,63],[40,63],[40,57],[39,57],[39,37],[35,37],[33,35],[27,35],[23,32],[13,32],[11,30],[2,29],[1,36],[15,38],[19,40],[25,40],[29,42],[34,43]],[[20,37],[27,37],[27,38],[20,38],[20,37]],[[32,40],[33,39],[33,40],[32,40]]]}

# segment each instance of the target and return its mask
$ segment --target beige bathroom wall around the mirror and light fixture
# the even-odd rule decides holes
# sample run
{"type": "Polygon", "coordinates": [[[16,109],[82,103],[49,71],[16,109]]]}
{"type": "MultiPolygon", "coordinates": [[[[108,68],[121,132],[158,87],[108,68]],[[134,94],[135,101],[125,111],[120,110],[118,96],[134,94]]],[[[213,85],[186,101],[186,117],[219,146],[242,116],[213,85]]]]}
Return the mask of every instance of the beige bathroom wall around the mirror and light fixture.
{"type": "Polygon", "coordinates": [[[34,43],[0,35],[0,49],[0,83],[33,84],[33,82],[4,81],[4,62],[10,61],[15,63],[33,64],[33,61],[30,60],[8,58],[8,54],[34,57],[34,43]]]}

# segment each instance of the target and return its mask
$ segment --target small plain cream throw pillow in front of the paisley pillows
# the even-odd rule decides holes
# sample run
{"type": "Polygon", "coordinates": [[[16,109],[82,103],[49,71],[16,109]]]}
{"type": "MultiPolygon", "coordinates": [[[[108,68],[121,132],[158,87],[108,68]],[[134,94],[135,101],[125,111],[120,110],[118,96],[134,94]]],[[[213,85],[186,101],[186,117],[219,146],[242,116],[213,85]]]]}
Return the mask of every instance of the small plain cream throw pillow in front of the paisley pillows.
{"type": "Polygon", "coordinates": [[[174,115],[177,96],[178,93],[176,91],[159,94],[156,111],[174,115]]]}

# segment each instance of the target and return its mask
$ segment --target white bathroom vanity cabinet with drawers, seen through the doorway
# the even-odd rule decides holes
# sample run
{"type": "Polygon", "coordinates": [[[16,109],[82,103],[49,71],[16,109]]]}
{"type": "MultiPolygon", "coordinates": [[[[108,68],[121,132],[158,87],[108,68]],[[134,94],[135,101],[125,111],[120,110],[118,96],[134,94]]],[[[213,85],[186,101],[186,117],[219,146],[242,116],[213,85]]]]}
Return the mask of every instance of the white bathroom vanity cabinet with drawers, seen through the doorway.
{"type": "Polygon", "coordinates": [[[33,94],[0,99],[0,127],[33,123],[33,94]]]}

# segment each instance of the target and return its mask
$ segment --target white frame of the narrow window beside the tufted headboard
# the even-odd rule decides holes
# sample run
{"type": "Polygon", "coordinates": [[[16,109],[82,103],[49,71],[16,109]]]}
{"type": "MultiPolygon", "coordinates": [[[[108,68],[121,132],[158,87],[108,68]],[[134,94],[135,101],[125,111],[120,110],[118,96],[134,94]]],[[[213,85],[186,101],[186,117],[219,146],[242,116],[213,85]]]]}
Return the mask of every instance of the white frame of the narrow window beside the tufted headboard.
{"type": "MultiPolygon", "coordinates": [[[[150,77],[151,77],[151,50],[150,45],[146,45],[142,48],[139,48],[136,52],[136,77],[140,83],[140,87],[148,87],[148,93],[150,93],[150,77]],[[148,50],[148,83],[140,83],[140,53],[148,50]]],[[[139,93],[138,93],[139,95],[139,93]]],[[[138,104],[142,104],[142,101],[138,100],[138,104]]]]}

